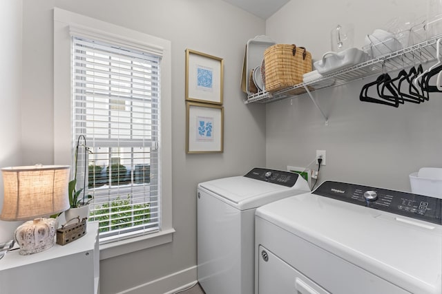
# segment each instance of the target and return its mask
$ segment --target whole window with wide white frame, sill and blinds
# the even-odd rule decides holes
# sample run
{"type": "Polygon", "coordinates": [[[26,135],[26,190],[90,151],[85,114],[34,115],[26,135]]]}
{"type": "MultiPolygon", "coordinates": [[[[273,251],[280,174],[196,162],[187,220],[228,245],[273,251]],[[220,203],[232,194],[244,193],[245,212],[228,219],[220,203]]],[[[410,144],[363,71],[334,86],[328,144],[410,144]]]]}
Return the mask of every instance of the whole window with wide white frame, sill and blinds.
{"type": "MultiPolygon", "coordinates": [[[[110,64],[111,52],[107,52],[107,55],[104,54],[107,56],[105,57],[106,66],[110,64]]],[[[79,63],[84,62],[84,60],[86,60],[86,56],[79,59],[79,63]]],[[[117,63],[117,61],[113,63],[117,63]]],[[[86,65],[80,67],[79,76],[86,74],[86,69],[86,65]]],[[[114,75],[106,72],[105,76],[113,77],[114,75]]],[[[120,74],[120,76],[122,75],[120,74]]],[[[147,76],[153,78],[151,73],[143,74],[143,78],[147,76]]],[[[108,204],[106,202],[99,204],[98,202],[102,201],[105,196],[107,200],[113,199],[111,193],[118,191],[122,196],[119,198],[119,205],[115,205],[117,207],[114,207],[114,212],[115,209],[123,210],[122,208],[124,208],[140,213],[143,218],[147,215],[151,218],[149,222],[145,223],[138,222],[139,216],[130,216],[129,218],[122,215],[122,218],[114,219],[115,222],[125,224],[120,227],[114,226],[112,231],[100,233],[100,260],[159,244],[166,244],[173,240],[175,230],[172,227],[171,76],[170,41],[60,8],[54,8],[54,163],[57,165],[71,164],[74,149],[73,138],[76,138],[80,133],[85,134],[85,136],[88,136],[86,143],[94,153],[88,154],[86,158],[88,163],[78,169],[82,170],[84,174],[88,174],[88,178],[90,175],[90,182],[89,180],[86,182],[86,187],[88,187],[90,194],[95,195],[95,204],[102,205],[102,211],[100,211],[99,207],[94,207],[95,204],[93,203],[93,209],[97,209],[96,212],[93,212],[95,213],[94,216],[101,214],[102,217],[106,218],[105,213],[102,213],[103,210],[107,209],[109,213],[112,212],[111,207],[106,207],[106,205],[112,205],[112,202],[108,202],[108,204]],[[134,65],[127,65],[128,69],[124,68],[123,63],[123,65],[107,67],[107,71],[115,70],[117,67],[122,67],[120,71],[123,69],[133,70],[138,68],[138,65],[135,66],[137,62],[145,63],[144,59],[146,58],[148,63],[152,63],[153,67],[157,66],[157,85],[153,85],[156,86],[157,93],[156,96],[155,93],[152,93],[151,96],[157,98],[158,103],[157,105],[151,103],[150,106],[153,109],[146,111],[151,115],[151,120],[146,119],[144,123],[146,125],[151,124],[151,134],[148,136],[145,133],[144,142],[142,140],[143,134],[139,131],[141,125],[135,123],[135,119],[139,119],[137,115],[145,112],[145,109],[141,110],[137,107],[149,106],[146,99],[143,99],[144,96],[148,96],[144,91],[144,85],[140,90],[136,87],[141,85],[132,83],[135,89],[131,91],[124,84],[127,81],[122,84],[119,84],[118,81],[108,81],[111,84],[106,84],[106,87],[103,87],[106,90],[97,86],[92,90],[88,87],[83,90],[78,89],[77,94],[79,95],[76,95],[75,98],[79,98],[77,105],[79,116],[73,116],[75,87],[88,84],[86,83],[86,76],[79,78],[78,85],[73,83],[73,60],[75,60],[73,59],[73,54],[75,54],[73,37],[78,41],[85,42],[84,46],[80,46],[81,49],[78,51],[80,53],[86,52],[85,49],[88,46],[94,45],[94,50],[99,49],[97,46],[103,46],[104,49],[111,50],[112,54],[123,50],[124,54],[122,55],[124,56],[119,56],[117,59],[119,58],[122,61],[133,59],[134,65]],[[86,46],[87,43],[89,43],[88,46],[86,46]],[[142,61],[137,59],[138,54],[142,55],[140,56],[142,61]],[[130,58],[126,55],[129,55],[130,58]],[[116,88],[119,91],[115,92],[114,85],[118,86],[116,88]],[[108,96],[105,98],[106,92],[108,96]],[[98,98],[106,99],[106,103],[96,102],[93,105],[95,108],[88,110],[90,112],[95,111],[95,113],[102,112],[103,117],[108,118],[106,128],[110,124],[119,123],[117,129],[114,127],[107,129],[107,132],[111,132],[112,136],[107,134],[106,140],[104,136],[99,136],[104,135],[100,133],[104,129],[97,128],[94,132],[90,131],[91,134],[87,134],[86,125],[90,122],[86,120],[86,122],[80,123],[81,116],[83,118],[87,117],[86,106],[89,103],[88,99],[92,98],[95,98],[96,101],[98,101],[98,98]],[[141,103],[142,101],[144,104],[141,103]],[[107,106],[105,107],[105,105],[107,106]],[[155,107],[157,113],[155,113],[155,107]],[[107,114],[104,115],[104,112],[107,114]],[[112,116],[112,118],[119,118],[119,120],[111,120],[109,116],[111,113],[117,113],[117,116],[112,116]],[[133,117],[128,118],[128,114],[132,114],[133,117]],[[157,121],[152,118],[157,118],[157,121]],[[130,123],[131,119],[132,125],[130,123]],[[73,129],[73,121],[78,125],[75,129],[73,129]],[[157,123],[157,129],[155,129],[155,123],[157,123]],[[119,132],[119,135],[122,136],[117,138],[115,132],[119,132]],[[135,138],[133,135],[139,137],[135,138]],[[143,143],[144,145],[142,145],[143,143]],[[97,145],[95,146],[95,144],[97,145]],[[110,167],[107,169],[109,165],[110,167]],[[86,171],[84,168],[86,168],[86,171]],[[141,197],[142,193],[145,193],[145,197],[141,197]],[[157,195],[156,203],[153,193],[157,195]],[[140,200],[140,202],[126,199],[129,194],[131,197],[133,195],[139,197],[137,201],[140,200]],[[148,207],[145,207],[145,205],[148,205],[148,207]],[[155,209],[154,206],[157,208],[155,209]],[[124,227],[128,226],[128,223],[131,224],[131,227],[124,227]],[[152,226],[156,226],[157,229],[152,226]]],[[[83,148],[80,148],[79,151],[83,151],[83,148]]],[[[79,163],[83,164],[84,160],[81,159],[84,158],[80,158],[79,163]]],[[[80,182],[81,178],[77,176],[77,180],[80,182]]],[[[106,227],[111,225],[107,224],[106,227]]]]}

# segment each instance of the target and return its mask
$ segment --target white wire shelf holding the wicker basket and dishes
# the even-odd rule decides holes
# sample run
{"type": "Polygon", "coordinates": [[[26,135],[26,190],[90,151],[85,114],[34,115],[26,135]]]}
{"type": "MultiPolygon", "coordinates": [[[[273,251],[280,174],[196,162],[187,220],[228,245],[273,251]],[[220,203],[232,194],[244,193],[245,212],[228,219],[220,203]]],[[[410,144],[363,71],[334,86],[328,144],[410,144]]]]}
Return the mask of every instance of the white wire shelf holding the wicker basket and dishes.
{"type": "Polygon", "coordinates": [[[324,76],[315,80],[300,83],[292,87],[287,87],[278,92],[258,92],[250,94],[244,100],[245,104],[249,103],[271,103],[280,101],[285,98],[291,98],[305,94],[307,87],[310,92],[324,89],[327,87],[336,87],[344,85],[361,78],[366,78],[382,72],[391,72],[395,70],[402,70],[412,65],[427,63],[436,59],[436,45],[442,34],[432,37],[427,41],[423,41],[416,45],[411,45],[390,54],[378,56],[375,59],[365,61],[352,67],[347,67],[337,72],[325,74],[324,76]]]}

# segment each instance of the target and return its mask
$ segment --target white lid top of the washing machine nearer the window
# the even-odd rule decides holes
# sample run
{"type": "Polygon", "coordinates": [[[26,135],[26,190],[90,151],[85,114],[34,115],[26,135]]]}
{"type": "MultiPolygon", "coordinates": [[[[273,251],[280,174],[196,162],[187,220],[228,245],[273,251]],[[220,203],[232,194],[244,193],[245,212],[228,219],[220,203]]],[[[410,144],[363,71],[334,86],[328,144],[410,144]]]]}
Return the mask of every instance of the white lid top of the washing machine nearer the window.
{"type": "Polygon", "coordinates": [[[293,187],[244,176],[202,182],[198,187],[211,191],[215,197],[240,210],[260,207],[275,200],[309,191],[307,182],[301,177],[298,177],[293,187]]]}

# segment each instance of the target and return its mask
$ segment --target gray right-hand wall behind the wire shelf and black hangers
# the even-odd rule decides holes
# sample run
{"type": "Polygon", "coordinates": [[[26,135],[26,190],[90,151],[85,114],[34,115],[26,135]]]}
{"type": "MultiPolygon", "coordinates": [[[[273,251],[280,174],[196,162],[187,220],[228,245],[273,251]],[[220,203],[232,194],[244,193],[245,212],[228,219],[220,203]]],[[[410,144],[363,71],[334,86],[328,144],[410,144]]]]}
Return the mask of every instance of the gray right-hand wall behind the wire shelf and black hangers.
{"type": "MultiPolygon", "coordinates": [[[[354,23],[354,45],[361,48],[365,34],[392,19],[426,13],[426,1],[290,1],[267,20],[266,30],[277,43],[305,46],[320,59],[331,50],[330,31],[338,23],[354,23]]],[[[327,165],[320,169],[319,182],[341,180],[403,191],[410,191],[413,171],[441,167],[442,94],[398,109],[359,101],[362,85],[375,78],[313,92],[329,117],[328,126],[306,94],[267,104],[267,167],[303,167],[322,149],[327,165]]]]}

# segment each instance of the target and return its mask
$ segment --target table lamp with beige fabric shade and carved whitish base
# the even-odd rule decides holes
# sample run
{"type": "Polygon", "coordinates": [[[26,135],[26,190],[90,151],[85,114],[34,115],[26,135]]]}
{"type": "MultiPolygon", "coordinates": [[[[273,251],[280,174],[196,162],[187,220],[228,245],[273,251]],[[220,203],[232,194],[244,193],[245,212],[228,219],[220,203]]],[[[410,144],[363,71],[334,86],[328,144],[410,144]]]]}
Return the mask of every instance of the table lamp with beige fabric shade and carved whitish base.
{"type": "Polygon", "coordinates": [[[49,249],[55,243],[58,221],[44,218],[69,208],[68,165],[5,167],[1,220],[30,220],[19,226],[14,238],[21,255],[49,249]],[[32,220],[33,219],[33,220],[32,220]]]}

